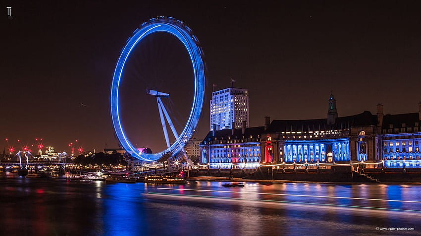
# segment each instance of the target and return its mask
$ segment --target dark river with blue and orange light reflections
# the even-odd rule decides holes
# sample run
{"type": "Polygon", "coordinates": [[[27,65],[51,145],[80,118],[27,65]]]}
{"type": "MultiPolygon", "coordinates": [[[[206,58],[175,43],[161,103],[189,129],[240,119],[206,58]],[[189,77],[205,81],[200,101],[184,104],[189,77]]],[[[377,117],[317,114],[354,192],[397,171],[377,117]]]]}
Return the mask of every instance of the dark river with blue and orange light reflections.
{"type": "Polygon", "coordinates": [[[227,188],[0,174],[0,235],[421,235],[416,184],[227,188]]]}

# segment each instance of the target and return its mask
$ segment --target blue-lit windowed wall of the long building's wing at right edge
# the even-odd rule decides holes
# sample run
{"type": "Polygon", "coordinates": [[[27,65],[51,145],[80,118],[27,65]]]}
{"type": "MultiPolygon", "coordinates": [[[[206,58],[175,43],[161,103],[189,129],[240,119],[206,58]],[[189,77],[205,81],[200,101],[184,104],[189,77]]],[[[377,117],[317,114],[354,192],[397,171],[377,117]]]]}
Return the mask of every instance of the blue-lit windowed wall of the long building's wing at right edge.
{"type": "Polygon", "coordinates": [[[421,132],[383,136],[385,167],[421,167],[421,132]]]}

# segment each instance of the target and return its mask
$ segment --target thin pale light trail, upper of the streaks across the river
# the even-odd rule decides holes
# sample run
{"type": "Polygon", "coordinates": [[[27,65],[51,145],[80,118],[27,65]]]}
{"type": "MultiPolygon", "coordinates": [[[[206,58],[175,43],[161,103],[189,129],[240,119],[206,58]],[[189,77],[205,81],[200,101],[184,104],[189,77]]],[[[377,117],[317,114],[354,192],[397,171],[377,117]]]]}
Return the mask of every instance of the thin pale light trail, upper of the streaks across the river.
{"type": "Polygon", "coordinates": [[[254,193],[254,192],[240,192],[240,191],[204,190],[204,189],[177,189],[177,188],[157,188],[157,189],[199,191],[199,192],[218,192],[218,193],[260,194],[260,195],[292,196],[292,197],[324,197],[324,198],[340,198],[340,199],[371,200],[371,201],[396,201],[396,202],[421,203],[421,201],[391,200],[391,199],[362,198],[362,197],[333,197],[333,196],[319,196],[319,195],[271,194],[271,193],[254,193]]]}

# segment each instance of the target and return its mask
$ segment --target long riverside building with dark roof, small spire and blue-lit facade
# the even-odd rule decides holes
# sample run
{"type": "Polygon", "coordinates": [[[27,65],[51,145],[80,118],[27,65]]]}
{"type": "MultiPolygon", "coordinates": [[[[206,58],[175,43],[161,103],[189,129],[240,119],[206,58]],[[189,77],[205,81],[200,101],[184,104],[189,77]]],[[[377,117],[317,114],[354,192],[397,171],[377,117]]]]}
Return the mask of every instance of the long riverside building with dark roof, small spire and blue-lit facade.
{"type": "Polygon", "coordinates": [[[243,133],[238,133],[241,129],[233,130],[231,135],[230,129],[209,132],[200,145],[201,163],[209,163],[211,168],[230,168],[244,161],[241,157],[249,157],[246,163],[384,160],[385,167],[421,167],[420,119],[421,103],[418,113],[383,115],[383,105],[379,104],[376,115],[365,111],[338,117],[331,94],[325,119],[270,122],[265,117],[264,127],[247,128],[243,133]],[[253,134],[250,136],[247,130],[253,130],[253,134]],[[235,152],[253,150],[252,147],[256,147],[256,153],[247,153],[252,156],[238,156],[235,152]],[[250,158],[253,155],[257,158],[250,158]]]}

